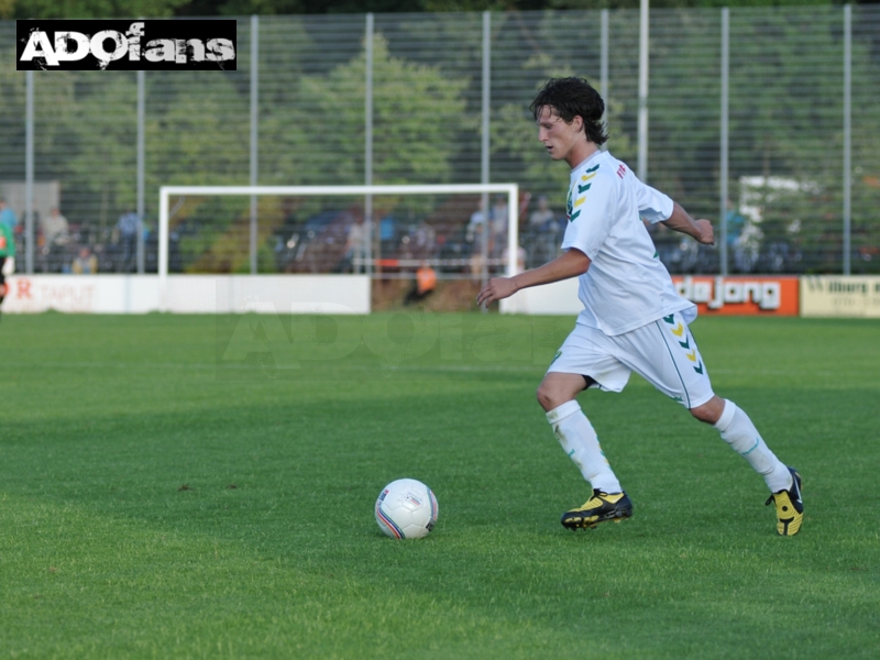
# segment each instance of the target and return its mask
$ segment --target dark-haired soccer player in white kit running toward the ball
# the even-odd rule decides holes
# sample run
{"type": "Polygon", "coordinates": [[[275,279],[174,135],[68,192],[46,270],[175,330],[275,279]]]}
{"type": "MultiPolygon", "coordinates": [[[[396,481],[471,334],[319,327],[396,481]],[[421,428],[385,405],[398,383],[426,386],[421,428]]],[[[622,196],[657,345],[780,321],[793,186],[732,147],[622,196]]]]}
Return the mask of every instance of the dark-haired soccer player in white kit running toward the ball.
{"type": "Polygon", "coordinates": [[[642,184],[626,164],[600,150],[607,140],[602,123],[605,103],[586,80],[548,80],[530,109],[538,140],[550,157],[571,167],[565,252],[515,277],[490,279],[477,302],[488,305],[529,286],[580,279],[584,309],[538,387],[547,421],[593,488],[583,506],[562,515],[562,525],[592,528],[632,515],[632,504],[576,396],[591,387],[620,392],[635,371],[696,419],[713,425],[763,476],[771,493],[767,504],[773,502],[777,508],[777,532],[798,534],[803,521],[801,476],[777,459],[741,408],[712,391],[688,328],[696,318],[696,307],[679,296],[642,218],[707,245],[714,244],[712,223],[694,220],[679,204],[642,184]]]}

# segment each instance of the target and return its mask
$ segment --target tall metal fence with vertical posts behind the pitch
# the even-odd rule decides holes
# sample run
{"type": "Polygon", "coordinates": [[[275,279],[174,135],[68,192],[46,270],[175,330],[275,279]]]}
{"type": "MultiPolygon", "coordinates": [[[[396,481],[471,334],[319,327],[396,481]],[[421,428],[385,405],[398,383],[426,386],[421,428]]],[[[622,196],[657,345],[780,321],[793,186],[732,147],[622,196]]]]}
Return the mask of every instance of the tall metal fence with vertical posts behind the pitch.
{"type": "MultiPolygon", "coordinates": [[[[20,73],[0,22],[20,270],[154,272],[161,185],[517,183],[531,263],[529,212],[547,195],[564,215],[568,172],[527,107],[580,75],[605,92],[608,148],[724,229],[718,249],[658,230],[672,272],[880,272],[880,6],[653,10],[649,28],[640,103],[638,11],[244,18],[238,70],[216,73],[20,73]]],[[[254,220],[182,230],[184,253],[232,254],[177,268],[283,271],[289,222],[254,220]]]]}

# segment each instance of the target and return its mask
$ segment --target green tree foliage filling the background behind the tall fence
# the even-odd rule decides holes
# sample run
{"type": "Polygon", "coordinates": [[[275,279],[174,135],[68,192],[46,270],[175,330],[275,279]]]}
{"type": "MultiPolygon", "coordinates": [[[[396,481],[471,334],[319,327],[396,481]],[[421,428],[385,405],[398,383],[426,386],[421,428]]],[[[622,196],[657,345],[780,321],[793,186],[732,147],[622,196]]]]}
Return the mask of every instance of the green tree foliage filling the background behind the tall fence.
{"type": "MultiPolygon", "coordinates": [[[[162,11],[176,11],[177,6],[166,2],[162,7],[162,11]]],[[[616,55],[610,59],[606,98],[609,148],[635,165],[637,14],[610,13],[616,55]]],[[[666,10],[652,18],[662,29],[653,32],[652,28],[649,183],[706,217],[713,217],[718,207],[719,16],[717,10],[666,10]],[[664,36],[654,36],[658,34],[664,36]]],[[[358,41],[363,35],[363,16],[345,21],[354,28],[350,25],[344,35],[338,29],[342,18],[287,16],[261,22],[260,70],[266,72],[260,87],[261,184],[364,183],[366,55],[358,41]]],[[[373,182],[479,180],[481,16],[408,15],[377,20],[376,24],[373,182]]],[[[548,77],[595,76],[597,24],[596,11],[493,15],[493,76],[503,82],[493,87],[491,101],[491,180],[516,180],[534,194],[561,197],[564,172],[537,143],[527,108],[548,77]],[[560,37],[563,32],[566,36],[560,37]],[[578,47],[572,47],[572,34],[580,40],[578,47]]],[[[761,205],[765,234],[768,240],[791,239],[805,252],[825,250],[837,255],[834,258],[839,258],[836,243],[843,206],[843,135],[835,128],[843,128],[843,67],[837,56],[843,55],[840,26],[839,8],[732,12],[732,197],[736,200],[743,176],[778,176],[802,183],[807,195],[783,195],[768,188],[761,205]],[[794,237],[793,227],[799,228],[794,237]]],[[[880,112],[873,94],[880,85],[880,68],[878,51],[876,46],[871,50],[876,31],[858,31],[857,18],[853,46],[857,131],[854,229],[866,242],[880,244],[880,223],[859,210],[880,202],[876,147],[880,112]]],[[[7,61],[11,61],[9,53],[7,61]]],[[[148,191],[164,184],[248,182],[246,56],[240,68],[216,75],[147,74],[148,191]]],[[[92,200],[88,208],[65,209],[72,221],[90,222],[98,217],[112,221],[134,200],[135,78],[124,72],[96,76],[37,74],[40,177],[63,180],[65,194],[75,190],[78,198],[92,200]]],[[[13,173],[4,174],[8,178],[18,178],[22,169],[11,162],[23,153],[23,79],[21,73],[0,72],[4,98],[0,138],[10,154],[4,172],[13,173]]],[[[147,196],[150,208],[153,194],[147,196]]],[[[222,222],[232,222],[229,218],[237,218],[241,210],[230,209],[206,206],[202,210],[206,221],[217,222],[222,217],[227,218],[222,222]]],[[[184,210],[196,213],[195,207],[184,210]]],[[[282,212],[261,207],[262,217],[280,218],[282,212]]],[[[232,240],[230,235],[224,240],[232,240]]],[[[206,248],[193,245],[193,253],[206,248]]],[[[829,262],[804,267],[836,266],[829,262]]]]}

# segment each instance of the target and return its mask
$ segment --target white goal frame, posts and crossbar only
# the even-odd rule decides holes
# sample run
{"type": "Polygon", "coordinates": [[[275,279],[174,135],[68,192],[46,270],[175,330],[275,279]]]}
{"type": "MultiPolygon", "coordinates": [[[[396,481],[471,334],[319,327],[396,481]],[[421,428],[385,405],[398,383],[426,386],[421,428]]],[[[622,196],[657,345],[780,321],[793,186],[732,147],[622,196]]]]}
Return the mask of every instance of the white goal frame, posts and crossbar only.
{"type": "Polygon", "coordinates": [[[158,289],[160,309],[166,309],[168,283],[168,201],[172,196],[363,196],[377,195],[479,195],[507,194],[506,274],[517,273],[519,250],[519,186],[517,184],[450,184],[409,186],[162,186],[158,189],[158,289]]]}

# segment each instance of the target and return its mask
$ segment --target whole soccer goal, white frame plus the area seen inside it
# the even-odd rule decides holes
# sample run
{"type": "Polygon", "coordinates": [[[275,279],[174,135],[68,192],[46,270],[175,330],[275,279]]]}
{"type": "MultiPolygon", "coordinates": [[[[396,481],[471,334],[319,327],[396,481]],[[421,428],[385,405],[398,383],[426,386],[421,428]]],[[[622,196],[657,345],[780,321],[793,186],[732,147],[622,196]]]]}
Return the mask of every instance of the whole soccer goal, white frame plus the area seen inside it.
{"type": "Polygon", "coordinates": [[[169,274],[361,274],[486,280],[522,267],[516,184],[163,186],[169,274]]]}

